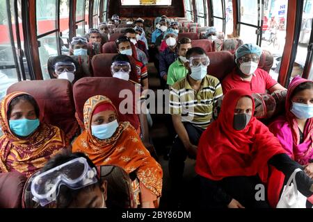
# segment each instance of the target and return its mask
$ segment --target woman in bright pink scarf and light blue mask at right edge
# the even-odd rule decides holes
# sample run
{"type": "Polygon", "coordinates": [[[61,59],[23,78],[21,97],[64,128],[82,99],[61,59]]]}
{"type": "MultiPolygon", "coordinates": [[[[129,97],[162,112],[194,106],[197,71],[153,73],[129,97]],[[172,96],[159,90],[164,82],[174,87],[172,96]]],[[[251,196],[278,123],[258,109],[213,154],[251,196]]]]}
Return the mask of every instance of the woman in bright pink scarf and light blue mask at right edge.
{"type": "MultiPolygon", "coordinates": [[[[276,119],[268,128],[289,156],[303,165],[307,176],[313,178],[313,81],[300,76],[291,81],[285,110],[285,116],[276,119]]],[[[284,182],[281,176],[276,181],[280,187],[284,182]]],[[[309,200],[313,203],[313,196],[309,200]]]]}

